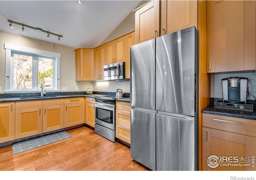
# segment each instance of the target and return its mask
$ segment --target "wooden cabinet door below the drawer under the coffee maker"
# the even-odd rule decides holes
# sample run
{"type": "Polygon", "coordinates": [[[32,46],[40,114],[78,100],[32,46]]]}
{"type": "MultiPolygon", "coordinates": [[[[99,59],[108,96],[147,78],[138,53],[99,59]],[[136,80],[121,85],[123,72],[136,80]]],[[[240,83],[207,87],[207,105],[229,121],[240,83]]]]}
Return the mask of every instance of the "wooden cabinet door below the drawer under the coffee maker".
{"type": "MultiPolygon", "coordinates": [[[[255,141],[254,141],[255,142],[255,141]]],[[[202,127],[202,170],[246,170],[246,166],[230,166],[229,160],[222,160],[216,168],[207,165],[209,156],[246,157],[246,136],[202,127]]],[[[231,160],[232,162],[232,160],[231,160]]]]}

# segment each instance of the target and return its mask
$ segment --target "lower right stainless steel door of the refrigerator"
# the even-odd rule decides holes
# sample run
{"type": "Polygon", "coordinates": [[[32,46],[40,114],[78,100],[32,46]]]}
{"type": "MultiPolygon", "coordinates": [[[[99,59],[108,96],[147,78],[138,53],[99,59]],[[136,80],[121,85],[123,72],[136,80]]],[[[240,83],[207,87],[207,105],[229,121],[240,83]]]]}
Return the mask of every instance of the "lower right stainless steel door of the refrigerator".
{"type": "Polygon", "coordinates": [[[194,117],[188,118],[156,114],[156,170],[195,170],[194,117]]]}

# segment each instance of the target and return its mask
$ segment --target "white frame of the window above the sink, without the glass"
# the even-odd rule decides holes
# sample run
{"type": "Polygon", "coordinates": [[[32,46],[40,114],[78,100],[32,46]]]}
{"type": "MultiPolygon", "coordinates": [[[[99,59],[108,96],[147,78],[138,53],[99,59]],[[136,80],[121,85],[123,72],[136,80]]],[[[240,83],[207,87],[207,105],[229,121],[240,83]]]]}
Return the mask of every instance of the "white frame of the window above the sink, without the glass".
{"type": "MultiPolygon", "coordinates": [[[[54,69],[56,71],[56,73],[54,74],[53,77],[53,81],[54,81],[54,88],[55,89],[48,89],[47,91],[49,92],[54,92],[54,91],[60,91],[60,57],[61,54],[60,53],[54,53],[54,52],[50,52],[50,51],[44,51],[44,50],[40,50],[40,49],[33,49],[30,47],[22,47],[22,46],[18,46],[18,45],[12,45],[12,44],[4,44],[4,49],[5,49],[5,92],[8,93],[12,93],[12,92],[38,92],[40,91],[40,89],[13,89],[12,85],[13,85],[13,65],[12,65],[12,51],[18,51],[21,53],[30,53],[30,54],[35,54],[38,56],[48,56],[48,57],[55,57],[56,58],[56,65],[54,65],[54,67],[56,69],[54,69]]],[[[52,59],[52,58],[50,58],[52,59]]],[[[33,62],[34,63],[34,62],[33,62]]],[[[32,78],[35,78],[38,75],[34,75],[32,78]]],[[[39,82],[38,82],[39,83],[39,82]]],[[[38,85],[33,85],[33,86],[37,86],[38,85]]]]}

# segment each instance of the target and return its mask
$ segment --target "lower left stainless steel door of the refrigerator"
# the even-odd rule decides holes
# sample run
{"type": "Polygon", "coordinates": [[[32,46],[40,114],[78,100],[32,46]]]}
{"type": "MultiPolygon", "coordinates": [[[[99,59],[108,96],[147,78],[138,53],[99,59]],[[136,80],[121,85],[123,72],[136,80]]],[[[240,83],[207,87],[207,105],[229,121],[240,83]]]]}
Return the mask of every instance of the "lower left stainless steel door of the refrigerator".
{"type": "Polygon", "coordinates": [[[131,158],[156,170],[156,114],[131,109],[131,158]]]}

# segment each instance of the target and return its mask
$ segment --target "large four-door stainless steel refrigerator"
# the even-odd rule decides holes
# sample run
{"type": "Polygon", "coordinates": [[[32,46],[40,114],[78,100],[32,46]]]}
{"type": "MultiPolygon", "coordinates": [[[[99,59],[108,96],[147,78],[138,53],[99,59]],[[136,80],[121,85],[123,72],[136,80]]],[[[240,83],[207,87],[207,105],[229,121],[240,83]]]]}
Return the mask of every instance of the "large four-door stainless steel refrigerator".
{"type": "Polygon", "coordinates": [[[131,158],[151,170],[198,170],[198,31],[130,47],[131,158]]]}

